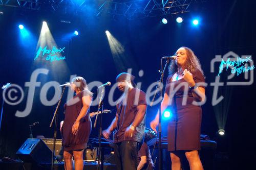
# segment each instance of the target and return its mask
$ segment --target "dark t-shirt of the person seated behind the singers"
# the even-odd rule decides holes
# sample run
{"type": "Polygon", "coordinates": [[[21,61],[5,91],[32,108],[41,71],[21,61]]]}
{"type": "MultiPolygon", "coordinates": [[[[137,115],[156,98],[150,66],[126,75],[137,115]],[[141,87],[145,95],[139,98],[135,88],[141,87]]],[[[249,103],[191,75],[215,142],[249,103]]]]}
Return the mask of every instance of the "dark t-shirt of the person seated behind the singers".
{"type": "Polygon", "coordinates": [[[144,164],[144,166],[142,167],[142,169],[147,169],[148,164],[150,164],[150,166],[148,166],[149,169],[152,169],[154,167],[154,163],[153,160],[151,159],[151,154],[150,154],[150,149],[148,149],[148,146],[145,142],[143,142],[143,144],[141,145],[141,148],[138,152],[138,164],[140,162],[140,157],[142,156],[146,156],[146,163],[144,164]]]}

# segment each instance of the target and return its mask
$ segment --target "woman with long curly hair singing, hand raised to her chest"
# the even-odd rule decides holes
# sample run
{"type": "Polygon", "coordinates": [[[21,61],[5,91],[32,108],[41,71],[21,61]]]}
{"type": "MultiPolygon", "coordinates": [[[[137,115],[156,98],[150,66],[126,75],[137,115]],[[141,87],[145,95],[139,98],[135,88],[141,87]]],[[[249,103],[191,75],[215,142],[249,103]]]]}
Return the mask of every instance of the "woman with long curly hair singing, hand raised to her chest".
{"type": "MultiPolygon", "coordinates": [[[[200,150],[201,106],[205,102],[205,84],[200,62],[188,47],[180,47],[176,59],[170,63],[161,114],[173,113],[168,124],[168,151],[172,169],[181,169],[181,154],[185,153],[190,169],[203,169],[200,150]]],[[[156,131],[159,112],[151,122],[156,131]]]]}

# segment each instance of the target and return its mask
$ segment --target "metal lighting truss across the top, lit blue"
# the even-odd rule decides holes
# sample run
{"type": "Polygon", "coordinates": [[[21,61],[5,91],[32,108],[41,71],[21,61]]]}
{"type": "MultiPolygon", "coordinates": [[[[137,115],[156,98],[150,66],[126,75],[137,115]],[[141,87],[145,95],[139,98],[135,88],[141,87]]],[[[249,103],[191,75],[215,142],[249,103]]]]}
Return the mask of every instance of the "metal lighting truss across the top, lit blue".
{"type": "Polygon", "coordinates": [[[64,14],[93,12],[96,16],[128,19],[186,13],[207,0],[0,0],[0,6],[45,10],[64,14]]]}

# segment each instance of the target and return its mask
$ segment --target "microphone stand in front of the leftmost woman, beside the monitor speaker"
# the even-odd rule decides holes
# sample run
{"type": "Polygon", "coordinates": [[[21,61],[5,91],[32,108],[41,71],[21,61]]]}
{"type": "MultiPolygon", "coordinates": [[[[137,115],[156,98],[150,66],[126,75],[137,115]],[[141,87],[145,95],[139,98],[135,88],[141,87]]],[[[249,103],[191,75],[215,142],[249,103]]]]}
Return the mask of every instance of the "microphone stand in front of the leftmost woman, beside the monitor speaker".
{"type": "Polygon", "coordinates": [[[63,96],[63,93],[66,89],[66,86],[63,87],[62,89],[62,92],[61,92],[61,95],[60,95],[60,98],[59,98],[59,102],[58,102],[58,105],[55,109],[55,112],[54,112],[54,115],[52,117],[52,121],[51,121],[51,124],[50,124],[50,128],[52,127],[52,124],[53,124],[53,121],[54,121],[54,133],[53,133],[53,151],[52,151],[52,167],[51,169],[53,170],[53,159],[54,159],[54,155],[55,155],[55,147],[56,147],[56,136],[57,136],[57,121],[58,121],[58,109],[59,109],[59,106],[60,106],[60,103],[61,103],[61,99],[62,99],[62,96],[63,96]]]}

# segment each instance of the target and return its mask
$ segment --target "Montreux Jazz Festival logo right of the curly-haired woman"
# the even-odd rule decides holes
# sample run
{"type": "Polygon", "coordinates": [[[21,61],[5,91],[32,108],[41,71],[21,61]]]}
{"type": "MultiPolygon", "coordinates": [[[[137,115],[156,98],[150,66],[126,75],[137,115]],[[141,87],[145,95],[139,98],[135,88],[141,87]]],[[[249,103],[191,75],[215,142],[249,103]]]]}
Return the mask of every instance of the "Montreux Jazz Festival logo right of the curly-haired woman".
{"type": "Polygon", "coordinates": [[[230,67],[232,74],[237,74],[239,76],[242,72],[248,72],[250,70],[253,70],[255,67],[254,65],[249,63],[253,63],[251,56],[243,56],[243,57],[234,57],[233,58],[225,58],[222,59],[220,66],[219,66],[219,74],[220,76],[224,66],[226,67],[226,70],[230,67]]]}

